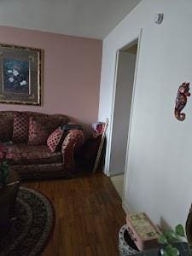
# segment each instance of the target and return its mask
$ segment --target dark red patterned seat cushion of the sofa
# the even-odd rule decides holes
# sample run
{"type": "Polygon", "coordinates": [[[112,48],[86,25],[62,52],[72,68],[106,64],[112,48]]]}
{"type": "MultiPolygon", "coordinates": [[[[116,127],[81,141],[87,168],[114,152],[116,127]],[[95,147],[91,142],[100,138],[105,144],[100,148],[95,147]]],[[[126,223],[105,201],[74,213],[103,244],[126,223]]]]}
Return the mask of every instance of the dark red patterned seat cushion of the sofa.
{"type": "Polygon", "coordinates": [[[32,165],[62,162],[61,152],[50,152],[47,145],[12,144],[7,148],[7,158],[10,164],[32,165]]]}

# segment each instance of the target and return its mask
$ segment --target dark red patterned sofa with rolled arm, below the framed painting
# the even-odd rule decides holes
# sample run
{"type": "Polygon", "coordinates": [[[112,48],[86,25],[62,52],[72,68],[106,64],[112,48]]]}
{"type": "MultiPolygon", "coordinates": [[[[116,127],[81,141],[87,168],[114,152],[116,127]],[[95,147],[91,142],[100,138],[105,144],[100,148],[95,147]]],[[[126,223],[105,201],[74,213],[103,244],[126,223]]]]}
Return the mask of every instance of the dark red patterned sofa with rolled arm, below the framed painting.
{"type": "Polygon", "coordinates": [[[22,179],[71,176],[73,154],[84,142],[84,134],[62,131],[60,127],[67,123],[67,116],[61,114],[0,111],[0,147],[7,152],[10,169],[22,179]]]}

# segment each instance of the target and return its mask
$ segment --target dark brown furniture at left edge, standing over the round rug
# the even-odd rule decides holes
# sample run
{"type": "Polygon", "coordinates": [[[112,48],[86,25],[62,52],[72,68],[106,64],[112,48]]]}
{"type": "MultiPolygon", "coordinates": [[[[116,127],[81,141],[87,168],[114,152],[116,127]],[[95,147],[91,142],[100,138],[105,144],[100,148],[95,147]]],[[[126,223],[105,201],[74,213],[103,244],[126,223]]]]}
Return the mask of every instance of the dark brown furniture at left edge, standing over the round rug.
{"type": "Polygon", "coordinates": [[[9,229],[11,218],[15,216],[15,199],[20,187],[20,175],[9,172],[8,183],[0,189],[0,237],[9,229]]]}

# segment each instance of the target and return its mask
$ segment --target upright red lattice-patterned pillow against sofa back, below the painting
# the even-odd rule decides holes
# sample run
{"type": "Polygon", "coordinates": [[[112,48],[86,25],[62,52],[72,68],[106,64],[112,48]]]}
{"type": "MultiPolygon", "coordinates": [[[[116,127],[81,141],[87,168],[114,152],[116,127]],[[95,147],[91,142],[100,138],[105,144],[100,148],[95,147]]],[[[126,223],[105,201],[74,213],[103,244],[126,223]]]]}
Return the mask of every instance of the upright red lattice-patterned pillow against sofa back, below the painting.
{"type": "Polygon", "coordinates": [[[14,143],[27,143],[29,135],[29,116],[26,113],[14,113],[14,143]]]}

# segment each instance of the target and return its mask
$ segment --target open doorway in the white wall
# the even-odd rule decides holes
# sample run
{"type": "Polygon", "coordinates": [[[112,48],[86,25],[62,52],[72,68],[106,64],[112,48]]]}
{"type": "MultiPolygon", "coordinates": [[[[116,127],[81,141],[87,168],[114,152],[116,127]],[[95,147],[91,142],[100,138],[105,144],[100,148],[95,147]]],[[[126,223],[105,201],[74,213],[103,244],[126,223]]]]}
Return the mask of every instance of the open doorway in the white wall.
{"type": "Polygon", "coordinates": [[[130,125],[132,91],[136,70],[138,39],[119,49],[116,59],[113,98],[113,128],[108,176],[123,197],[126,148],[130,125]]]}

